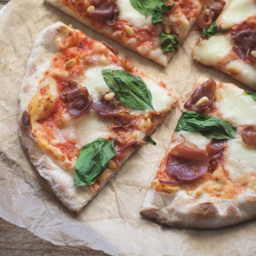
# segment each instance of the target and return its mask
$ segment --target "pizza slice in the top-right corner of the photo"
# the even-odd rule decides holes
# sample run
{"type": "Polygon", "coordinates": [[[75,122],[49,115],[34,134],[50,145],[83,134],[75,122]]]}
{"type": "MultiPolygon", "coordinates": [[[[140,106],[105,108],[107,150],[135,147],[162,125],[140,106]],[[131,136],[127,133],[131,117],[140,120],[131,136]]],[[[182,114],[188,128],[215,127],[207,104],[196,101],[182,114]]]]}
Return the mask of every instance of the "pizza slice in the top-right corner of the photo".
{"type": "Polygon", "coordinates": [[[192,51],[194,59],[256,89],[256,1],[219,0],[217,12],[210,2],[198,20],[203,32],[192,51]]]}

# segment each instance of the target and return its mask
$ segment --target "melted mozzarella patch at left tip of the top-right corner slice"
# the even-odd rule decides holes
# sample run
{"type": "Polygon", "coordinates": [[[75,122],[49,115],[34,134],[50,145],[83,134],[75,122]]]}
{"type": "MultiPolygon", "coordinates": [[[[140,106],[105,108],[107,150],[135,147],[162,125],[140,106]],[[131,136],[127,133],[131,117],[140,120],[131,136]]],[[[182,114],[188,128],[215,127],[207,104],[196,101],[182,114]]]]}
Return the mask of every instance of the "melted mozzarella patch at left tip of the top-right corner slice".
{"type": "Polygon", "coordinates": [[[197,43],[193,49],[194,59],[204,65],[216,66],[218,61],[232,50],[229,34],[216,34],[197,43]]]}

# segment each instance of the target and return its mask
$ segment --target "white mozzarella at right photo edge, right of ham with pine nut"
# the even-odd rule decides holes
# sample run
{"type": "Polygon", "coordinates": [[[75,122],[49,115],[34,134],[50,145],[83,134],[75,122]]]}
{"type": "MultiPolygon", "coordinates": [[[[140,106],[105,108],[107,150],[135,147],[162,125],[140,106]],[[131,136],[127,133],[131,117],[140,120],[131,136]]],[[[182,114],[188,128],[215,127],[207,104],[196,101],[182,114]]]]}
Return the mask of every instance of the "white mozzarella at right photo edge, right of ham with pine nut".
{"type": "Polygon", "coordinates": [[[256,101],[235,85],[222,84],[217,89],[216,108],[232,124],[256,123],[256,101]]]}

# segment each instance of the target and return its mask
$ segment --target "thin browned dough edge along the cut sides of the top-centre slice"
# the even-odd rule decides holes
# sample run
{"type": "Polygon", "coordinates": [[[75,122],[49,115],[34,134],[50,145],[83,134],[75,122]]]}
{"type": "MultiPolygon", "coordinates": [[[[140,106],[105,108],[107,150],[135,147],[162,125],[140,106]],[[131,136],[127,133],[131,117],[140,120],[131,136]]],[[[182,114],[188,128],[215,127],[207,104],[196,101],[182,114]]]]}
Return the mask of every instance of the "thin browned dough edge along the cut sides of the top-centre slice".
{"type": "MultiPolygon", "coordinates": [[[[136,43],[134,42],[134,38],[132,40],[129,40],[128,42],[123,43],[121,40],[119,40],[118,35],[115,35],[115,31],[110,26],[105,26],[103,28],[96,28],[94,27],[93,21],[91,22],[88,19],[83,19],[78,13],[76,13],[74,10],[68,8],[66,5],[63,4],[62,0],[44,0],[48,4],[51,4],[52,6],[60,9],[62,12],[67,13],[68,15],[74,17],[76,20],[80,20],[82,23],[87,25],[88,27],[96,30],[97,32],[103,34],[104,36],[107,36],[115,41],[118,41],[125,47],[130,48],[131,50],[141,54],[143,57],[147,58],[148,60],[155,61],[159,65],[166,67],[168,65],[169,60],[172,58],[172,56],[175,54],[176,51],[162,53],[161,48],[161,42],[159,40],[158,44],[159,47],[156,47],[155,50],[151,50],[151,48],[147,49],[147,46],[136,46],[136,43]]],[[[198,5],[198,15],[202,9],[202,3],[201,1],[195,0],[195,3],[198,5]]],[[[118,3],[121,4],[121,3],[118,3]]],[[[126,16],[127,18],[127,16],[126,16]]],[[[198,16],[188,21],[186,19],[185,23],[181,23],[179,26],[179,29],[184,30],[184,38],[189,33],[190,29],[195,24],[195,21],[197,20],[198,16]]],[[[178,17],[179,20],[181,20],[181,17],[178,17]]],[[[182,43],[182,40],[180,40],[180,44],[182,43]]]]}

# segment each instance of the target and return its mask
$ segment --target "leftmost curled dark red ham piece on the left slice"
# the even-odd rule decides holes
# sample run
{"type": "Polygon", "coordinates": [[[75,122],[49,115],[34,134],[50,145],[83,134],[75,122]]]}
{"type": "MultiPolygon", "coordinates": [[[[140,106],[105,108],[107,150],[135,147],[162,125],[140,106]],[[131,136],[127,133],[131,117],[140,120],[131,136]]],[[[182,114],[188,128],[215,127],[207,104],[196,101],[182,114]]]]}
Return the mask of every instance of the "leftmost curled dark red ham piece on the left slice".
{"type": "Polygon", "coordinates": [[[61,99],[68,102],[68,111],[74,118],[79,118],[88,113],[92,100],[86,87],[62,91],[61,99]]]}

